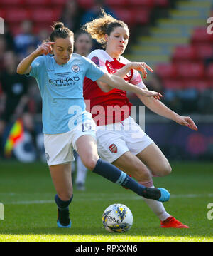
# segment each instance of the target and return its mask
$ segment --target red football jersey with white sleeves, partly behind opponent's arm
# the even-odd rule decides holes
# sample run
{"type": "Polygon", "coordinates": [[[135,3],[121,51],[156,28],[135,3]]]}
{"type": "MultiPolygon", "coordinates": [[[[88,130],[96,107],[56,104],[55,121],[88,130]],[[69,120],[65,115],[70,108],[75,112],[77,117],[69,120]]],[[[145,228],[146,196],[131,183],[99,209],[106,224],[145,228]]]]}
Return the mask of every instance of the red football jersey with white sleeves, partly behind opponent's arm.
{"type": "MultiPolygon", "coordinates": [[[[102,68],[104,72],[110,74],[115,73],[126,63],[129,63],[122,56],[119,61],[116,58],[111,58],[104,50],[92,51],[88,58],[99,68],[102,68]]],[[[145,88],[141,75],[136,70],[131,69],[124,79],[129,83],[145,88]]],[[[92,113],[92,118],[94,118],[97,126],[121,122],[131,114],[132,104],[126,97],[126,91],[114,88],[104,93],[97,83],[89,78],[84,78],[84,100],[87,105],[87,111],[92,113]]]]}

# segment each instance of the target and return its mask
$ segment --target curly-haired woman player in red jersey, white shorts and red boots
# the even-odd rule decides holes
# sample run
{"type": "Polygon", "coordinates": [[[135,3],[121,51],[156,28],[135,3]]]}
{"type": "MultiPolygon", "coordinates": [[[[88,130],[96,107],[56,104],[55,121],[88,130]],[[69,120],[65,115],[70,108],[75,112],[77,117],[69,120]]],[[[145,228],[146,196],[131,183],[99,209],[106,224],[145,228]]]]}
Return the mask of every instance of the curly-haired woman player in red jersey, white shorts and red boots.
{"type": "MultiPolygon", "coordinates": [[[[103,16],[84,26],[93,39],[102,43],[104,50],[95,50],[90,58],[103,71],[113,73],[140,88],[146,88],[140,73],[141,67],[151,68],[146,63],[130,62],[123,56],[129,41],[129,29],[102,10],[103,16]]],[[[146,78],[146,72],[143,78],[146,78]]],[[[197,130],[188,116],[179,116],[156,98],[137,95],[142,103],[160,116],[180,125],[197,130]]],[[[133,176],[141,185],[153,187],[152,176],[171,173],[170,163],[151,138],[131,118],[131,103],[126,91],[109,88],[107,84],[84,79],[84,99],[87,109],[97,123],[97,148],[99,156],[133,176]],[[101,86],[102,90],[99,88],[101,86]]],[[[187,228],[165,211],[163,203],[144,198],[148,206],[160,219],[161,227],[187,228]]]]}

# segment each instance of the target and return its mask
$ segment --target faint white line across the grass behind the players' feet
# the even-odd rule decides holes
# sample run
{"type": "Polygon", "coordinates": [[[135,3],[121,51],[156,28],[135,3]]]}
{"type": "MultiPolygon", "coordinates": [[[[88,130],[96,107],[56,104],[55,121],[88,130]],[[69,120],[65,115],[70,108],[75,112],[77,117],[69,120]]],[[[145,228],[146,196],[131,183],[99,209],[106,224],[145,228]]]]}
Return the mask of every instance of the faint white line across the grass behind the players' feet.
{"type": "MultiPolygon", "coordinates": [[[[107,194],[106,194],[107,197],[107,194]]],[[[208,197],[212,198],[213,194],[182,194],[182,195],[171,195],[170,198],[203,198],[208,197]]],[[[139,196],[118,196],[114,197],[114,200],[141,200],[142,198],[139,196]]],[[[88,201],[88,198],[77,198],[77,201],[88,201]]],[[[107,200],[103,195],[103,198],[89,198],[90,201],[102,201],[107,200]]],[[[109,199],[111,200],[111,198],[109,199]]],[[[32,201],[16,201],[10,203],[4,203],[4,205],[33,205],[33,204],[45,204],[45,203],[55,203],[54,200],[32,200],[32,201]]]]}

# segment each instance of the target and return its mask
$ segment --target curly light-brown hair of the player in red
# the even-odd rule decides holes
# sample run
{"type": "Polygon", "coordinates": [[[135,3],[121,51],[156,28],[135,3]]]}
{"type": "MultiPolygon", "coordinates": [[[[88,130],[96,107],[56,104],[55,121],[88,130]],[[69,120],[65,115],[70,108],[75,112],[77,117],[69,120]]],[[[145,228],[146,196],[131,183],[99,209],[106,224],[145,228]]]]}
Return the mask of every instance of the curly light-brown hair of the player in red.
{"type": "Polygon", "coordinates": [[[103,48],[105,48],[105,34],[110,36],[111,32],[114,31],[116,27],[121,26],[122,28],[125,27],[128,29],[128,26],[126,23],[124,23],[124,21],[117,20],[111,15],[106,14],[104,9],[102,9],[102,14],[103,16],[87,22],[87,24],[82,26],[82,29],[87,31],[87,33],[91,35],[92,39],[95,39],[98,43],[101,43],[103,48]]]}

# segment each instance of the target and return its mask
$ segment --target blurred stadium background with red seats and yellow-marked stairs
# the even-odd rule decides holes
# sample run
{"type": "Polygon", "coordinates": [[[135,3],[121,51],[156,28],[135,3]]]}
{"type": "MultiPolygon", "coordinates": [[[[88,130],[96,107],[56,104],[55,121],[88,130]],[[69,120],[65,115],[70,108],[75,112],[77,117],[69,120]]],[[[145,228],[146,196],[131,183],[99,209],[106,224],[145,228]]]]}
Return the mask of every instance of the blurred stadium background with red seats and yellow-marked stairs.
{"type": "MultiPolygon", "coordinates": [[[[146,133],[169,159],[212,160],[213,34],[207,34],[207,18],[213,16],[210,0],[1,0],[5,33],[0,36],[0,74],[4,73],[11,52],[18,63],[48,38],[53,21],[63,21],[77,32],[80,24],[91,19],[94,6],[104,7],[129,25],[131,38],[124,56],[131,61],[146,61],[155,71],[153,75],[148,73],[148,88],[163,93],[163,102],[175,112],[190,116],[199,129],[195,132],[179,126],[146,108],[146,133]]],[[[94,43],[93,48],[99,47],[94,43]]],[[[34,79],[26,83],[37,153],[26,130],[13,157],[23,162],[45,161],[40,94],[34,79]]],[[[1,80],[0,97],[1,114],[1,80]]],[[[130,97],[133,105],[141,105],[135,96],[130,97]]],[[[2,135],[3,144],[15,120],[11,116],[2,135]]]]}

